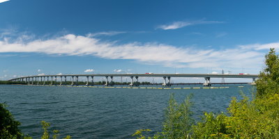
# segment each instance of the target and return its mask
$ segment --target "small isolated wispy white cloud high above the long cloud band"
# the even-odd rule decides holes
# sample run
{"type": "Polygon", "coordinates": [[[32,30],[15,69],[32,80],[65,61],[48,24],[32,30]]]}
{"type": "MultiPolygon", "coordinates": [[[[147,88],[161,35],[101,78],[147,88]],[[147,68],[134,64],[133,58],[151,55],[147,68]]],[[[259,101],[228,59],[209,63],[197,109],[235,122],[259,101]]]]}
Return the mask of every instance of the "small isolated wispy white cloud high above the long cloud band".
{"type": "Polygon", "coordinates": [[[202,20],[197,20],[197,21],[184,21],[184,22],[172,22],[171,24],[164,24],[160,25],[157,28],[163,29],[163,30],[169,30],[169,29],[177,29],[177,28],[183,28],[185,26],[193,26],[197,24],[220,24],[224,22],[218,22],[218,21],[204,21],[202,20]]]}

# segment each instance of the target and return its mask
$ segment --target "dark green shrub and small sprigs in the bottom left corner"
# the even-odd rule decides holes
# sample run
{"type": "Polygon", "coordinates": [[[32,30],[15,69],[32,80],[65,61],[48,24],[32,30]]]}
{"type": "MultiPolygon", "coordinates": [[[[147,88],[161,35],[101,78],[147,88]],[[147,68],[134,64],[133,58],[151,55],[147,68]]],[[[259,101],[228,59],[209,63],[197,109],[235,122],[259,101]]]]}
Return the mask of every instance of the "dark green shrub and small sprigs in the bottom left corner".
{"type": "MultiPolygon", "coordinates": [[[[6,109],[6,104],[0,104],[0,139],[32,139],[29,136],[24,136],[19,127],[20,122],[16,121],[13,115],[6,109]]],[[[47,130],[50,127],[50,123],[42,121],[44,129],[41,139],[50,139],[50,133],[47,130]]],[[[52,139],[57,139],[59,131],[54,130],[52,139]]],[[[66,136],[63,139],[70,139],[70,136],[66,136]]]]}

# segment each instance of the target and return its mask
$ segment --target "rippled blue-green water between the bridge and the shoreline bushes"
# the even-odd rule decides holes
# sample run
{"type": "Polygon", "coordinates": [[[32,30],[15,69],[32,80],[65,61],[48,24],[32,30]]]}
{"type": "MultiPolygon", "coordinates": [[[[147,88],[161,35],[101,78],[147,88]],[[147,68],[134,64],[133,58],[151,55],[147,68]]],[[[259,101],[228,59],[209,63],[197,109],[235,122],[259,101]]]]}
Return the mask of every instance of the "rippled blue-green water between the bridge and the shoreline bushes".
{"type": "Polygon", "coordinates": [[[250,93],[251,88],[226,86],[229,88],[159,90],[0,85],[0,102],[8,104],[8,110],[22,123],[23,133],[33,138],[42,135],[42,120],[52,123],[50,131],[59,129],[61,137],[132,138],[136,129],[160,131],[171,93],[179,102],[193,93],[193,117],[199,120],[204,111],[226,111],[232,97],[239,98],[240,90],[250,93]]]}

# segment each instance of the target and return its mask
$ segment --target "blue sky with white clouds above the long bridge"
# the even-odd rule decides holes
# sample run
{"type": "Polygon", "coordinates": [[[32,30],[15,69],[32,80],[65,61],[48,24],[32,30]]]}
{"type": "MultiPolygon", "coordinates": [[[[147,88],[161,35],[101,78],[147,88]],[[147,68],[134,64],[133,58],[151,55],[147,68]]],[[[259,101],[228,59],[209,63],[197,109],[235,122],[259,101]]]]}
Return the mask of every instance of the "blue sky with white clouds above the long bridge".
{"type": "Polygon", "coordinates": [[[278,1],[0,0],[0,80],[36,74],[257,74],[278,1]],[[86,71],[86,72],[85,72],[86,71]]]}

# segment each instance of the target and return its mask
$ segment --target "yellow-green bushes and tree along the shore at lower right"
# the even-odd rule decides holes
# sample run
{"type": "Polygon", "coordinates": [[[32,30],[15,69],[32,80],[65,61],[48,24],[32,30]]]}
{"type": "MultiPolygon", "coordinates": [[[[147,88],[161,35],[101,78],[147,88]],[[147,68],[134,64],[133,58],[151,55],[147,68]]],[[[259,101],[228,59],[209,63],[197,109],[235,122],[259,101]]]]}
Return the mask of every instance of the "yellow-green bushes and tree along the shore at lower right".
{"type": "Polygon", "coordinates": [[[256,81],[257,92],[252,98],[241,92],[235,97],[227,113],[204,113],[202,120],[193,124],[189,97],[176,104],[173,95],[163,122],[163,131],[151,137],[137,130],[138,138],[279,138],[279,58],[274,49],[265,56],[266,67],[256,81]]]}

